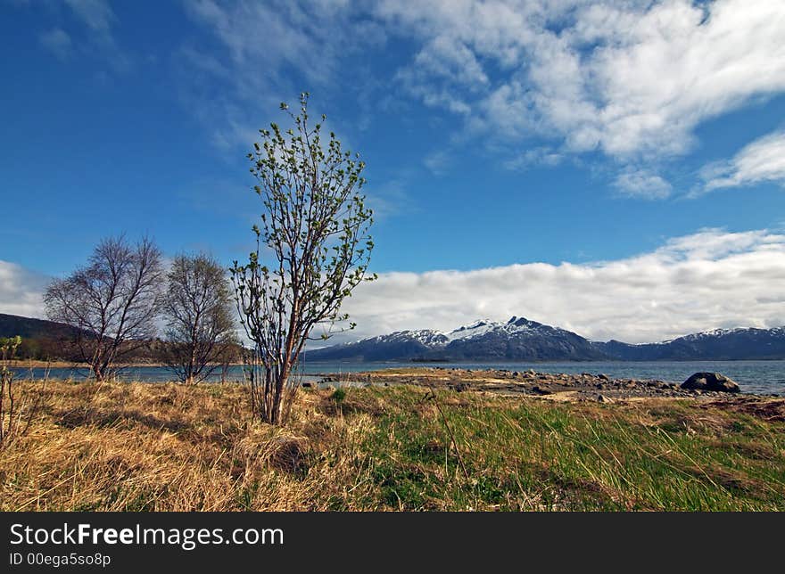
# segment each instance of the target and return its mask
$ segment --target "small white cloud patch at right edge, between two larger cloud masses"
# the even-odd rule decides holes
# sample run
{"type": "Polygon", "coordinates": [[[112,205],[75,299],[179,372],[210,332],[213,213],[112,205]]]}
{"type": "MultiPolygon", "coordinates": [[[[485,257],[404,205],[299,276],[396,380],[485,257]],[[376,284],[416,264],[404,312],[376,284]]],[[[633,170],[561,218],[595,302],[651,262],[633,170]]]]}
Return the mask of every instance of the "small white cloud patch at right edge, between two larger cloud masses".
{"type": "Polygon", "coordinates": [[[705,192],[763,182],[785,183],[785,131],[749,143],[731,160],[706,166],[701,175],[705,192]]]}

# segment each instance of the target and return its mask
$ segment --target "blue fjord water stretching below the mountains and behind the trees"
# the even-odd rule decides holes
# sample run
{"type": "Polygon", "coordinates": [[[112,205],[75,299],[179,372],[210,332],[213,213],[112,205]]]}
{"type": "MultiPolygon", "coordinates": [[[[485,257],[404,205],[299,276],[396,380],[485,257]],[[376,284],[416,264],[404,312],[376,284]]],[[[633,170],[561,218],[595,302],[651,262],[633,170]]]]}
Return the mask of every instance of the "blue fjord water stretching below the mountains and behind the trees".
{"type": "MultiPolygon", "coordinates": [[[[540,373],[604,373],[615,379],[654,379],[682,383],[690,374],[701,371],[723,373],[737,381],[741,391],[758,394],[785,395],[785,361],[653,361],[653,362],[551,362],[551,363],[409,363],[409,362],[310,362],[302,365],[304,375],[311,377],[323,373],[359,373],[380,369],[405,367],[460,368],[460,369],[507,369],[540,373]]],[[[43,368],[15,369],[19,377],[40,379],[46,376],[43,368]]],[[[48,376],[56,379],[84,379],[88,375],[83,368],[52,368],[48,376]]],[[[161,366],[134,366],[120,372],[123,381],[172,381],[173,373],[161,366]]],[[[229,381],[243,381],[242,366],[229,369],[229,381]]],[[[210,381],[219,381],[220,372],[212,374],[210,381]]]]}

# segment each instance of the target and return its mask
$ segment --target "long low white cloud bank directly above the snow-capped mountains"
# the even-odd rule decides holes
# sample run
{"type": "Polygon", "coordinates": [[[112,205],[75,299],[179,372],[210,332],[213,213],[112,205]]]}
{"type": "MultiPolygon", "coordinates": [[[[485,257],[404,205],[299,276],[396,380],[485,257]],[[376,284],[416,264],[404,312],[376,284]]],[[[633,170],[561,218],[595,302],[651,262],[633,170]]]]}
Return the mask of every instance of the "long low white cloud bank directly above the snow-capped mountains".
{"type": "Polygon", "coordinates": [[[705,229],[632,258],[474,271],[386,273],[344,310],[332,342],[403,329],[450,330],[525,316],[593,340],[665,340],[717,327],[785,324],[785,234],[705,229]]]}

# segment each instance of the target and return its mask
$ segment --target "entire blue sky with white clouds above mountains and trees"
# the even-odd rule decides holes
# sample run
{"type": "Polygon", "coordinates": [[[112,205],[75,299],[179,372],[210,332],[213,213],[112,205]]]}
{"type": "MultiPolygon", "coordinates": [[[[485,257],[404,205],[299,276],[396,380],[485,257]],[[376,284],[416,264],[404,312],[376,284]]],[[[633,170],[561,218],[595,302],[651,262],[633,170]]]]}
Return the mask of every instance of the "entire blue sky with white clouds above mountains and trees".
{"type": "Polygon", "coordinates": [[[247,258],[245,154],[307,91],[376,212],[335,342],[785,324],[783,30],[781,0],[0,0],[0,312],[112,234],[247,258]]]}

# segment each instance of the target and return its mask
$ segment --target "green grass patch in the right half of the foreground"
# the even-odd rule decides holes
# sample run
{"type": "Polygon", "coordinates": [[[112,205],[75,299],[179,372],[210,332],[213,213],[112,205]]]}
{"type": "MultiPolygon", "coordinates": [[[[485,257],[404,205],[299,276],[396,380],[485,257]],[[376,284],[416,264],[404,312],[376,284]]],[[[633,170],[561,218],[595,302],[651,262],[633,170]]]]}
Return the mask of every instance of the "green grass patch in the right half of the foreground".
{"type": "Polygon", "coordinates": [[[384,409],[366,448],[393,508],[785,508],[781,422],[690,401],[599,406],[445,392],[436,398],[445,425],[433,399],[400,388],[352,390],[345,408],[374,396],[384,409]]]}

